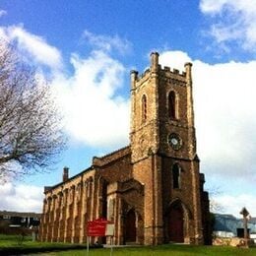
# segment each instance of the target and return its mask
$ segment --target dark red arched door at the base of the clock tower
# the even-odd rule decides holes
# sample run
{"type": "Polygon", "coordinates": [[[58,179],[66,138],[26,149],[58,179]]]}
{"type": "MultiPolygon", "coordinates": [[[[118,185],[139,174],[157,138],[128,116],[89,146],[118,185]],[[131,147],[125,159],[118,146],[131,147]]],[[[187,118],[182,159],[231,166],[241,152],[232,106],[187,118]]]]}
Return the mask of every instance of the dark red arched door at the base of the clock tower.
{"type": "Polygon", "coordinates": [[[168,238],[172,242],[184,242],[184,213],[180,202],[171,205],[168,213],[168,238]]]}

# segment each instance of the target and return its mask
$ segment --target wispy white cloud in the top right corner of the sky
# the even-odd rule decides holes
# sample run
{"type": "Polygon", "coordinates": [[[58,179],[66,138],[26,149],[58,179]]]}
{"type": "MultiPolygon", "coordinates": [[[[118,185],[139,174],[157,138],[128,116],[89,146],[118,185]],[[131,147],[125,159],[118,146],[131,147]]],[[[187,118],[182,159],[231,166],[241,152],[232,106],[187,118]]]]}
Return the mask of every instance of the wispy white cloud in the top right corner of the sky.
{"type": "Polygon", "coordinates": [[[218,43],[235,42],[255,51],[256,0],[201,0],[200,9],[213,19],[210,33],[218,43]]]}

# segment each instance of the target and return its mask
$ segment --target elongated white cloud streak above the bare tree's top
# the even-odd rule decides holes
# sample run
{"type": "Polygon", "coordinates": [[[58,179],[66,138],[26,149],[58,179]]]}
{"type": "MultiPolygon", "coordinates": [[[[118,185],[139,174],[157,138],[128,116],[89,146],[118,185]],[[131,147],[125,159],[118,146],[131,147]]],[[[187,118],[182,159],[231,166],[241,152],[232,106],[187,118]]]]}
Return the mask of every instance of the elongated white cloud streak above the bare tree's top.
{"type": "Polygon", "coordinates": [[[17,42],[18,49],[24,53],[23,57],[32,63],[46,65],[53,71],[62,68],[60,51],[49,45],[43,37],[27,32],[22,26],[0,27],[0,35],[17,42]]]}

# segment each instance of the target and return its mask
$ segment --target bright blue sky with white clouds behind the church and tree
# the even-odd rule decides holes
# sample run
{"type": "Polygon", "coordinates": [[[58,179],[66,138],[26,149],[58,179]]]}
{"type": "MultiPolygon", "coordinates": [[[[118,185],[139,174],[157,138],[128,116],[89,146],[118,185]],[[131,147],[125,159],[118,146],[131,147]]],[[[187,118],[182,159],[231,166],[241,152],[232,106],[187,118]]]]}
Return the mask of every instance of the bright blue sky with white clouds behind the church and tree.
{"type": "Polygon", "coordinates": [[[129,73],[158,50],[162,65],[193,62],[206,187],[224,213],[256,216],[255,0],[1,0],[0,36],[51,78],[69,137],[53,171],[0,187],[1,209],[40,211],[64,165],[74,175],[129,143],[129,73]]]}

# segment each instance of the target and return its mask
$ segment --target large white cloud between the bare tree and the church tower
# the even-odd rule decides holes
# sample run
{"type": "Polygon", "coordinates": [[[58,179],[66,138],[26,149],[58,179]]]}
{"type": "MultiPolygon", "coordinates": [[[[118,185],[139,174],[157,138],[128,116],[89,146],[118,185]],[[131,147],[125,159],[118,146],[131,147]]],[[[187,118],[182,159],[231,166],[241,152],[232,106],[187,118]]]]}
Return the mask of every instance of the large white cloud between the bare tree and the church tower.
{"type": "Polygon", "coordinates": [[[71,63],[74,75],[53,81],[68,133],[91,147],[127,145],[129,100],[118,94],[124,66],[102,50],[84,59],[73,55],[71,63]]]}

